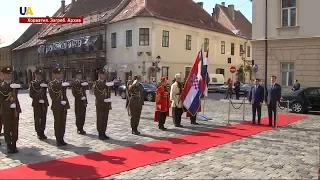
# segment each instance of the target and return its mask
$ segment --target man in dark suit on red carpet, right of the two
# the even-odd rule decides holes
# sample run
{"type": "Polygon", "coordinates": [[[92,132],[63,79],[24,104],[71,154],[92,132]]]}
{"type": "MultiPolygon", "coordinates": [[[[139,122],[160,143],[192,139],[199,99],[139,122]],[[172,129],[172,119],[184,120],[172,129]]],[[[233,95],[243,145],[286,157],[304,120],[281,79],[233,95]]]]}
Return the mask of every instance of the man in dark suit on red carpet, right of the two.
{"type": "Polygon", "coordinates": [[[273,114],[273,125],[276,125],[277,118],[277,102],[281,98],[281,86],[276,83],[277,77],[271,76],[271,84],[267,89],[267,105],[268,105],[268,116],[269,116],[269,126],[272,126],[272,113],[273,114]]]}

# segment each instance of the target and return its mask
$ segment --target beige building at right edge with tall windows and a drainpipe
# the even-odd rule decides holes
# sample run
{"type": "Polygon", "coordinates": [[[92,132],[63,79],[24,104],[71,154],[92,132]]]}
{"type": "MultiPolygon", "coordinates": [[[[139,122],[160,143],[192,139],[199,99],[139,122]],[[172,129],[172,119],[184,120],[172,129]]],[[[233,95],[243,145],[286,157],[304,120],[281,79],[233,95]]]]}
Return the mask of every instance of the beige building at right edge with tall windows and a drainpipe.
{"type": "Polygon", "coordinates": [[[311,21],[319,17],[319,6],[319,0],[267,1],[267,5],[266,0],[253,0],[253,58],[261,69],[257,76],[264,77],[267,60],[267,80],[275,75],[290,89],[295,79],[304,87],[320,86],[320,24],[311,21]]]}

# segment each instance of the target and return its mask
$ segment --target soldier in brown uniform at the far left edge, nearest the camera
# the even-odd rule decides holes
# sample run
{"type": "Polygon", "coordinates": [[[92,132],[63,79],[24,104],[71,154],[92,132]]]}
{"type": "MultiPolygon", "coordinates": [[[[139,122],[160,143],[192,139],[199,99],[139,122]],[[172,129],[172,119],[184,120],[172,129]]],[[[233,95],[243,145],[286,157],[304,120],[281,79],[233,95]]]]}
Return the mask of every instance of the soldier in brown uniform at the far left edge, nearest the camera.
{"type": "Polygon", "coordinates": [[[0,86],[4,139],[7,143],[8,153],[18,153],[16,142],[18,140],[19,114],[21,113],[21,108],[17,93],[21,85],[11,83],[11,67],[5,67],[1,71],[4,79],[0,86]]]}

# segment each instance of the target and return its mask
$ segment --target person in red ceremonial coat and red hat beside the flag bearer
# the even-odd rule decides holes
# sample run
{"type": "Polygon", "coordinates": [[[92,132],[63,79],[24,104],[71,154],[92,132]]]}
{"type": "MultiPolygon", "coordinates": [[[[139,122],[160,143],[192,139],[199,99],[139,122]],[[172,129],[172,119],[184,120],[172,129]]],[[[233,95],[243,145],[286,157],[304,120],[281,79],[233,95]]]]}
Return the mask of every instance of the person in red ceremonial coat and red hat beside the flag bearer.
{"type": "Polygon", "coordinates": [[[166,117],[169,116],[170,96],[167,88],[167,78],[161,78],[161,85],[156,90],[156,112],[154,121],[159,122],[159,129],[165,131],[166,117]]]}

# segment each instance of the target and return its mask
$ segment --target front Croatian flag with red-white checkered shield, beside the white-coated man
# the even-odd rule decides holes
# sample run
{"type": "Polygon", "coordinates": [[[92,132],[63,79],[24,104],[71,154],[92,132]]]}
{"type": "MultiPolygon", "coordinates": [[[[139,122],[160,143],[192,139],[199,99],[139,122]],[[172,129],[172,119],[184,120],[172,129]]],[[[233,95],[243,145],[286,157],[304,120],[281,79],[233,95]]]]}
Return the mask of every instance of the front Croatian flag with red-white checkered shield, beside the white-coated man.
{"type": "Polygon", "coordinates": [[[181,93],[181,100],[183,101],[183,106],[188,110],[188,112],[194,116],[201,104],[201,86],[202,86],[202,62],[200,61],[199,51],[198,56],[192,66],[192,69],[188,75],[187,81],[185,82],[184,88],[181,93]]]}

